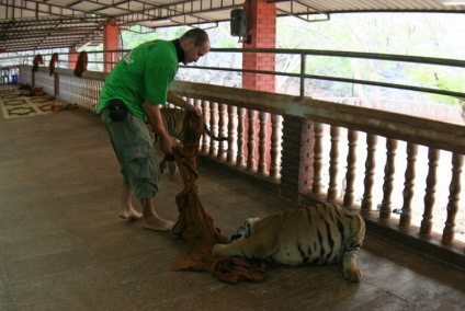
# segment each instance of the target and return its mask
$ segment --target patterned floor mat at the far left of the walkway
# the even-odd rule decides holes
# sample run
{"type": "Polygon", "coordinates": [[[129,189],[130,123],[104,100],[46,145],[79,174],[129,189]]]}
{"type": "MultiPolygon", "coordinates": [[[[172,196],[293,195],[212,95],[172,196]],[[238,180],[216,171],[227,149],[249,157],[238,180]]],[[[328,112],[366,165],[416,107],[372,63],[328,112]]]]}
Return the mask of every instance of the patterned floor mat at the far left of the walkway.
{"type": "Polygon", "coordinates": [[[27,96],[21,90],[0,92],[0,107],[3,118],[44,115],[53,112],[55,97],[47,95],[27,96]]]}

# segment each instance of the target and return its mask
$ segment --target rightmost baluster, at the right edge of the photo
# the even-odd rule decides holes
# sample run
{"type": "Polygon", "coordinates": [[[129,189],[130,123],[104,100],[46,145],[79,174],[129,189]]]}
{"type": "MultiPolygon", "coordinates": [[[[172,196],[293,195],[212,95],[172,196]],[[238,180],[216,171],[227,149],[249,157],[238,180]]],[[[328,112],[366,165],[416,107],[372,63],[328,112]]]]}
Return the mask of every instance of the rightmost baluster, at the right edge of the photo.
{"type": "Polygon", "coordinates": [[[454,241],[455,216],[458,211],[458,200],[461,198],[461,175],[463,164],[464,157],[454,153],[452,156],[452,180],[449,186],[447,218],[442,232],[442,243],[444,244],[450,244],[454,241]]]}

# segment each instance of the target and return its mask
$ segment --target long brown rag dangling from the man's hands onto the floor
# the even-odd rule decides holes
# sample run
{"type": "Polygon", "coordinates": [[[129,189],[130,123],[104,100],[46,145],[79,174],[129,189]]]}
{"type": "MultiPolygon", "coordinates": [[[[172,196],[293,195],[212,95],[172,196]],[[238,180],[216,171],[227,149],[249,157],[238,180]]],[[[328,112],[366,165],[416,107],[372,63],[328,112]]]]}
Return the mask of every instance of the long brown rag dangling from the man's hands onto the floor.
{"type": "Polygon", "coordinates": [[[199,199],[195,180],[199,177],[196,157],[203,120],[196,114],[184,119],[184,137],[188,139],[174,149],[174,160],[184,182],[184,188],[175,197],[179,219],[172,231],[181,235],[189,246],[186,254],[178,258],[173,270],[205,270],[222,281],[235,284],[238,280],[261,281],[265,276],[263,263],[248,262],[242,257],[214,257],[214,244],[229,243],[222,231],[213,224],[212,217],[199,199]],[[188,126],[186,126],[188,125],[188,126]]]}

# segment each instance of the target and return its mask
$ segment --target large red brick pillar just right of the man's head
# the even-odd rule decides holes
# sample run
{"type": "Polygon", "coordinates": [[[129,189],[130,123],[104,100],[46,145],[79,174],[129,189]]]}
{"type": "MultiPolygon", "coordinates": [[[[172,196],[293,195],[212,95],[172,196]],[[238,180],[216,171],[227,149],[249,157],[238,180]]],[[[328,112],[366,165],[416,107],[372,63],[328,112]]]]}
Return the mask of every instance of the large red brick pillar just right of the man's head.
{"type": "MultiPolygon", "coordinates": [[[[275,48],[276,46],[276,5],[268,3],[266,0],[246,0],[245,11],[249,15],[249,33],[245,36],[245,48],[275,48]],[[248,39],[250,38],[250,42],[248,39]]],[[[250,70],[275,70],[274,54],[246,53],[242,58],[242,68],[250,70]]],[[[242,88],[249,90],[275,91],[275,77],[273,74],[242,73],[242,88]]],[[[256,123],[256,141],[260,130],[260,118],[256,123]]],[[[247,134],[247,130],[246,130],[247,134]]],[[[270,169],[270,140],[271,140],[271,117],[268,118],[266,127],[266,170],[270,169]]],[[[248,136],[246,135],[246,139],[248,136]]],[[[247,140],[246,140],[247,141],[247,140]]],[[[256,143],[256,146],[258,146],[256,143]]],[[[245,150],[246,157],[249,150],[245,150]]],[[[254,151],[256,159],[259,157],[258,148],[254,151]]],[[[257,161],[256,161],[257,162],[257,161]]]]}

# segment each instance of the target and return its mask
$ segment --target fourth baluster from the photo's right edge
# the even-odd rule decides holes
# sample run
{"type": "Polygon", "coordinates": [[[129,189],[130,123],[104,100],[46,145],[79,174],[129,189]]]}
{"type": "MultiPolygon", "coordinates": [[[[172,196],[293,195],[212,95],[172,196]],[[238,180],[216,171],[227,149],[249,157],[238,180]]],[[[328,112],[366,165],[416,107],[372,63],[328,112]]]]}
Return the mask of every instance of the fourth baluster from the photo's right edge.
{"type": "Polygon", "coordinates": [[[396,172],[397,140],[386,139],[386,164],[384,166],[383,200],[379,207],[379,219],[389,219],[392,212],[393,182],[396,172]]]}

